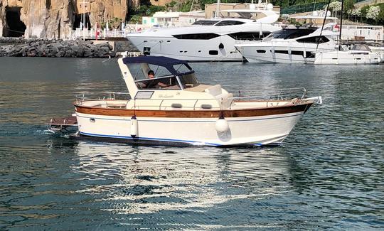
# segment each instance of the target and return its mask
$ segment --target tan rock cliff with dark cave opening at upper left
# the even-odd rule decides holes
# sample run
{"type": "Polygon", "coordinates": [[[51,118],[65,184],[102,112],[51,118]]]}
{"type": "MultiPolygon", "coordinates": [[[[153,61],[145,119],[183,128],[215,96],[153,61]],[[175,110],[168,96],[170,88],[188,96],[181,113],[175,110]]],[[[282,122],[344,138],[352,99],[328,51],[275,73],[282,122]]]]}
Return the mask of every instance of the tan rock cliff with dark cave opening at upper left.
{"type": "MultiPolygon", "coordinates": [[[[70,38],[79,4],[83,0],[0,0],[0,36],[16,33],[26,38],[70,38]],[[79,3],[78,3],[79,1],[79,3]],[[16,25],[17,24],[17,25],[16,25]],[[21,26],[18,26],[21,25],[21,26]],[[23,31],[25,30],[25,31],[23,31]]],[[[119,18],[124,21],[128,5],[138,0],[85,0],[90,24],[119,18]]]]}

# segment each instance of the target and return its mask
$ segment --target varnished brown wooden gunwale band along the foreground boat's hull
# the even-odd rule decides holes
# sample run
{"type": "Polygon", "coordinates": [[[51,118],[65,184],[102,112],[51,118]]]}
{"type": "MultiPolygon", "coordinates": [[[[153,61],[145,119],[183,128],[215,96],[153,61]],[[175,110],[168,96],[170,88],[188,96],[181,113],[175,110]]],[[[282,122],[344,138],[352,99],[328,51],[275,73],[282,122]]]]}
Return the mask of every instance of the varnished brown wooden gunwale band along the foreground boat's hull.
{"type": "Polygon", "coordinates": [[[223,113],[224,117],[258,117],[274,114],[289,114],[306,112],[313,102],[285,105],[278,107],[261,107],[257,109],[225,109],[220,110],[150,110],[150,109],[116,109],[102,107],[87,107],[75,105],[76,112],[113,117],[168,117],[168,118],[217,118],[223,113]]]}

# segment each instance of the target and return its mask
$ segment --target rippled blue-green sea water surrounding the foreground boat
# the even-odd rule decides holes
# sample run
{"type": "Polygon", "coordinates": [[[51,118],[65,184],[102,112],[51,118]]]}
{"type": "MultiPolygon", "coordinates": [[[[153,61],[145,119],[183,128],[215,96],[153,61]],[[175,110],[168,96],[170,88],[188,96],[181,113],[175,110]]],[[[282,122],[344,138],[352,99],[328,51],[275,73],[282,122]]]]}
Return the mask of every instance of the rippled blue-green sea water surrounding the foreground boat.
{"type": "Polygon", "coordinates": [[[274,148],[75,141],[44,122],[78,93],[125,91],[116,60],[0,58],[0,230],[384,229],[384,65],[192,66],[324,104],[274,148]]]}

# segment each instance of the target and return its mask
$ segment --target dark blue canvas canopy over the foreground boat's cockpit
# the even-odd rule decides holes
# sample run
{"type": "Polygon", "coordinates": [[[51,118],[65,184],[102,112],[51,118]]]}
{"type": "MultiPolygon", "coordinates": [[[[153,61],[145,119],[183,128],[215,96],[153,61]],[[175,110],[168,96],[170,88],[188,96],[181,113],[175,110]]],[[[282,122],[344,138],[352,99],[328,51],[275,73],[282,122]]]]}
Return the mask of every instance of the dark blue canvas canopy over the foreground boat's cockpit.
{"type": "Polygon", "coordinates": [[[168,58],[164,56],[138,56],[138,57],[127,57],[123,58],[123,63],[124,64],[129,64],[129,63],[148,63],[152,65],[158,65],[166,68],[171,72],[172,75],[182,75],[185,73],[178,72],[175,68],[174,65],[186,65],[186,67],[191,70],[188,73],[193,72],[192,68],[188,65],[188,62],[185,60],[177,60],[175,58],[168,58]]]}

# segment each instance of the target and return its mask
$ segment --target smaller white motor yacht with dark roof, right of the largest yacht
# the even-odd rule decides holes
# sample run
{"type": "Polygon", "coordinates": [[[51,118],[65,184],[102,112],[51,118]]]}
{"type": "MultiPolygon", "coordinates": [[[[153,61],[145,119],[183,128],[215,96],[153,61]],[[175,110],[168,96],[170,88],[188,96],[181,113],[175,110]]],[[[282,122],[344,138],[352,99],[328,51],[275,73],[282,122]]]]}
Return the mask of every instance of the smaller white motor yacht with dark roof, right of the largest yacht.
{"type": "Polygon", "coordinates": [[[287,28],[259,42],[237,43],[235,47],[250,63],[313,63],[316,51],[336,49],[335,23],[321,28],[287,28]]]}

